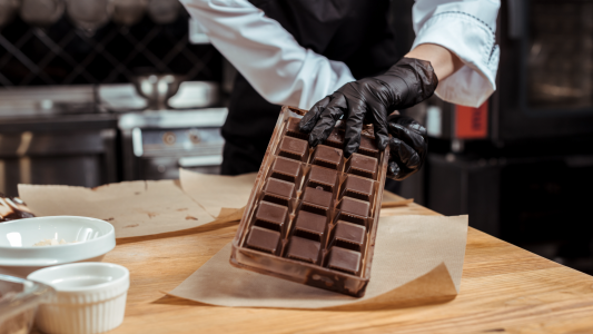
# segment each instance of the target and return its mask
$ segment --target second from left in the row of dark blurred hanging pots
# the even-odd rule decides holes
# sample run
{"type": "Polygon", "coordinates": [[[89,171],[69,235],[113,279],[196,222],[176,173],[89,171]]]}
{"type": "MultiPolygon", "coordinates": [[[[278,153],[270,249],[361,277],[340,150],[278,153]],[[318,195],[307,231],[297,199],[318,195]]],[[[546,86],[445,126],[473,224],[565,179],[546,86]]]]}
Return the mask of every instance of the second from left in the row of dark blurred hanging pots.
{"type": "Polygon", "coordinates": [[[47,27],[61,18],[65,8],[63,0],[22,0],[20,16],[29,24],[47,27]]]}

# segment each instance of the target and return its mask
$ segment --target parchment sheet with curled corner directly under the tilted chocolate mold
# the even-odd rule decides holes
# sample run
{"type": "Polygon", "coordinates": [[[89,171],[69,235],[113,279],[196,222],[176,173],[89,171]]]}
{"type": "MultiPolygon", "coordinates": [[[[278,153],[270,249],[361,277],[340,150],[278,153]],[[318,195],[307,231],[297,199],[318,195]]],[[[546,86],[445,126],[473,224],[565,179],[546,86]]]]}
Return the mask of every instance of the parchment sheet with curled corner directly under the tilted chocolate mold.
{"type": "Polygon", "coordinates": [[[230,244],[169,294],[220,306],[362,308],[443,301],[459,291],[467,216],[382,217],[362,298],[233,267],[230,244]]]}

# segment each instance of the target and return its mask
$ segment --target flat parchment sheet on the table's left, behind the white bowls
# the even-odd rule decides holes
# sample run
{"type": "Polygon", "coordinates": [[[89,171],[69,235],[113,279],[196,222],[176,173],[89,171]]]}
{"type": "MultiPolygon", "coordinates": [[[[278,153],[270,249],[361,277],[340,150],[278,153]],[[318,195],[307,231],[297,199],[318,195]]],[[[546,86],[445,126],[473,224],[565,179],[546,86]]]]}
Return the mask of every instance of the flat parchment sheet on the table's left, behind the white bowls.
{"type": "Polygon", "coordinates": [[[19,185],[19,196],[37,216],[107,220],[116,228],[117,238],[187,229],[215,220],[175,180],[125,181],[92,189],[19,185]]]}

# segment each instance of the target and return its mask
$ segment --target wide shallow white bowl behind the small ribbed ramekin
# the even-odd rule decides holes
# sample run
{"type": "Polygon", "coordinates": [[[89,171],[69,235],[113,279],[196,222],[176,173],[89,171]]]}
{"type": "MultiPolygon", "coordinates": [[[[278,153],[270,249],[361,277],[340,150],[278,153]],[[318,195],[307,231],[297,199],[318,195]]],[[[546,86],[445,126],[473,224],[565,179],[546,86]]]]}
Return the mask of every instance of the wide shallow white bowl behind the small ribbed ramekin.
{"type": "Polygon", "coordinates": [[[0,274],[26,277],[47,266],[101,261],[116,246],[113,226],[105,220],[53,216],[0,224],[0,274]],[[73,244],[33,246],[43,239],[73,244]]]}

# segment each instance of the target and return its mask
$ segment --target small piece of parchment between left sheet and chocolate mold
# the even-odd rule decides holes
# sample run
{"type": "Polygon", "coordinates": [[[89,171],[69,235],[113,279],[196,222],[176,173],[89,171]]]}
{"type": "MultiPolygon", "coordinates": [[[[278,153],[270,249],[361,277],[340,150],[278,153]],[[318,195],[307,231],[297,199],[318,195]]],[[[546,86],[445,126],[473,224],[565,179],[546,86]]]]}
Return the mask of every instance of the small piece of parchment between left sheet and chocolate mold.
{"type": "Polygon", "coordinates": [[[238,176],[208,175],[179,169],[181,188],[217,220],[238,220],[247,205],[257,173],[238,176]],[[231,220],[229,216],[234,214],[231,220]],[[226,217],[226,218],[225,218],[226,217]]]}

